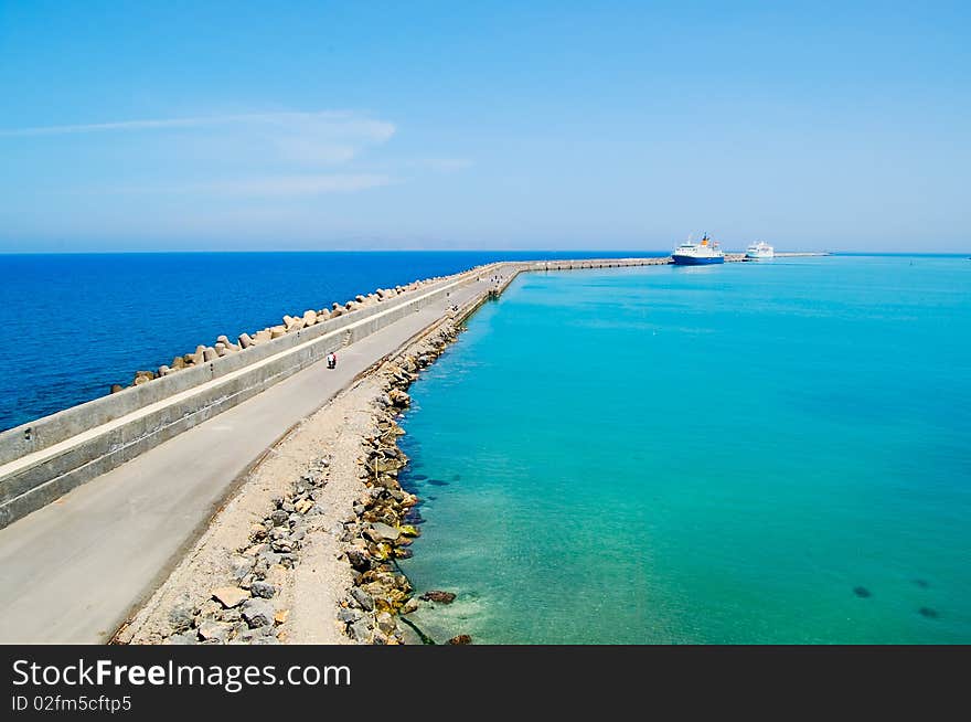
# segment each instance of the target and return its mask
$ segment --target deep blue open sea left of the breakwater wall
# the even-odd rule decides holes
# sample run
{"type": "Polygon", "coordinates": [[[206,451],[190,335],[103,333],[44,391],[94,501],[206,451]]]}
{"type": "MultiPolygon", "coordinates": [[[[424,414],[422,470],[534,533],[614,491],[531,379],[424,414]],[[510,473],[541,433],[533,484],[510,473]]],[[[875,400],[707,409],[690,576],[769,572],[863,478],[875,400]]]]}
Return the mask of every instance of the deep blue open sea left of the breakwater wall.
{"type": "Polygon", "coordinates": [[[127,385],[222,333],[378,287],[498,259],[632,255],[644,252],[0,255],[0,431],[127,385]]]}

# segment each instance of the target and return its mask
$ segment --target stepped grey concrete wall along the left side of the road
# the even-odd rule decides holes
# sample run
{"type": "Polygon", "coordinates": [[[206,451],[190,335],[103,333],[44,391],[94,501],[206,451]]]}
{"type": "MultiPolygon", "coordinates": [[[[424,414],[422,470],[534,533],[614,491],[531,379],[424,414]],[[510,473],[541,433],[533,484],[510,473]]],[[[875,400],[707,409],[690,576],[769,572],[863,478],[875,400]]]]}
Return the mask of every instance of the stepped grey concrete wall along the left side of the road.
{"type": "Polygon", "coordinates": [[[492,273],[472,269],[0,434],[0,528],[492,273]]]}

